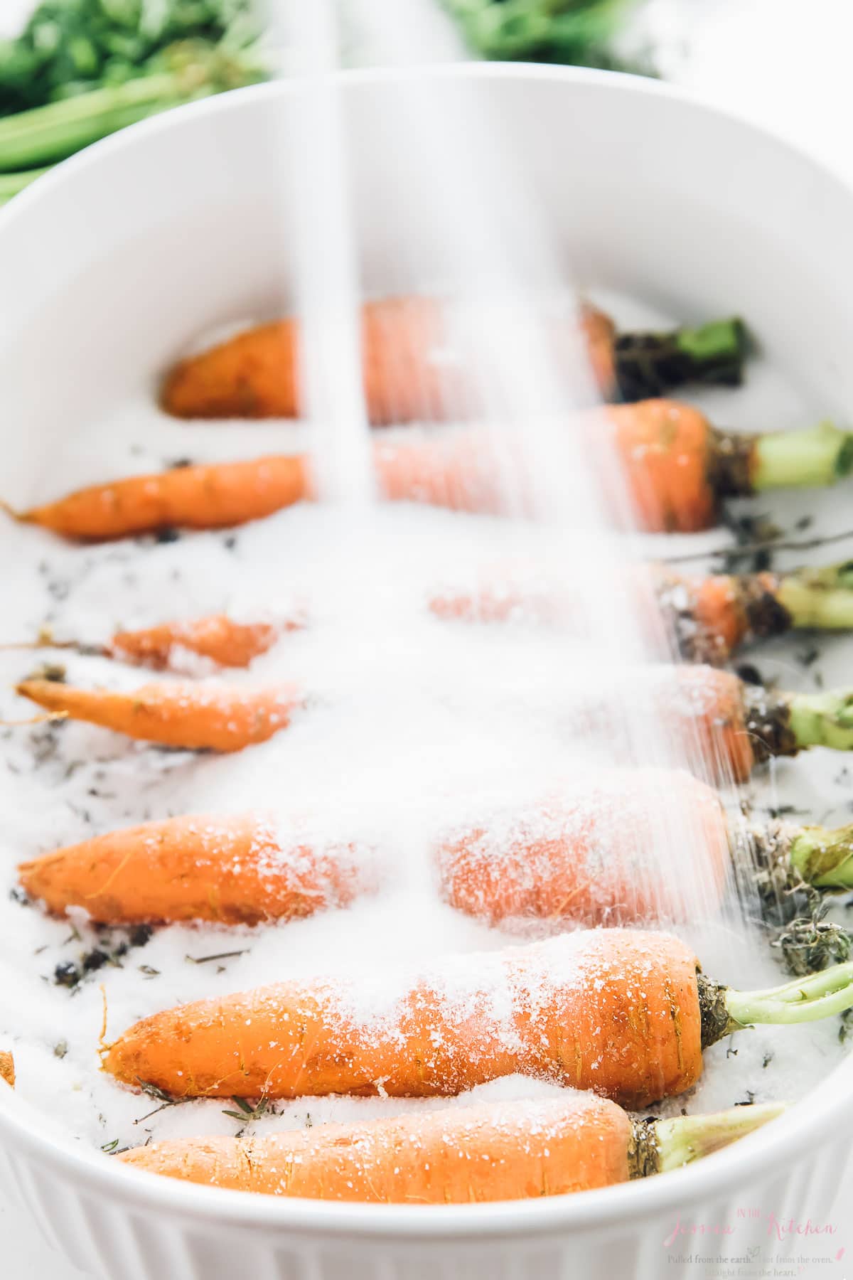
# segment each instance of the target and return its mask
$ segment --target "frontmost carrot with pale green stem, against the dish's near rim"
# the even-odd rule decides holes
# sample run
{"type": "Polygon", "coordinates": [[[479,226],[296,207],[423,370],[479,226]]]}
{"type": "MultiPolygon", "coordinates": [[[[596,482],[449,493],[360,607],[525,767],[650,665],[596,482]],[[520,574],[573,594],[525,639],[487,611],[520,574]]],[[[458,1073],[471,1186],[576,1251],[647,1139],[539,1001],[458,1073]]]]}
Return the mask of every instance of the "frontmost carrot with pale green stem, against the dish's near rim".
{"type": "Polygon", "coordinates": [[[633,1120],[591,1093],[324,1124],[265,1137],[183,1138],[121,1152],[134,1169],[266,1196],[467,1204],[613,1187],[678,1169],[784,1107],[633,1120]]]}

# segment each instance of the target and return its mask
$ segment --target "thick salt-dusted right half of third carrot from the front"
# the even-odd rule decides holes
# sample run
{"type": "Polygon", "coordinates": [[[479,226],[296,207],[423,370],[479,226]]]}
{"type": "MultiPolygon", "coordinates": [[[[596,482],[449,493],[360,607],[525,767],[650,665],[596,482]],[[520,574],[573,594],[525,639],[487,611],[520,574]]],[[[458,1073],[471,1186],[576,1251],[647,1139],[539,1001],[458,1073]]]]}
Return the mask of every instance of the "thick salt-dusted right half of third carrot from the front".
{"type": "Polygon", "coordinates": [[[697,905],[691,877],[652,870],[664,797],[665,812],[689,823],[692,847],[683,858],[701,859],[711,905],[723,895],[729,858],[723,806],[689,773],[662,769],[613,771],[450,833],[436,851],[442,896],[491,924],[688,920],[697,905]]]}

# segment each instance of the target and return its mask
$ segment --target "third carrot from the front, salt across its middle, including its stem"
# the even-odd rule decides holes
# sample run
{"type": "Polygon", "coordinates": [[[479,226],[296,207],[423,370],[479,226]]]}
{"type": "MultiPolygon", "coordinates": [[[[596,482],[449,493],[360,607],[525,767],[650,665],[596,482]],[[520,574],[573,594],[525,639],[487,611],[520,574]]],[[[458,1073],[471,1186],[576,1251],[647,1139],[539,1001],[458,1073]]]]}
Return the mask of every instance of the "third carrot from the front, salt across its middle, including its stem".
{"type": "MultiPolygon", "coordinates": [[[[691,822],[689,855],[701,864],[708,905],[723,892],[729,851],[742,873],[755,868],[771,905],[803,883],[853,888],[853,826],[755,824],[747,849],[743,831],[728,829],[716,794],[688,773],[614,769],[535,803],[492,809],[439,840],[442,896],[491,924],[691,919],[696,904],[678,877],[665,869],[650,876],[661,795],[691,822]]],[[[293,919],[345,906],[375,887],[372,850],[352,840],[285,838],[263,814],[150,822],[56,849],[18,872],[49,910],[82,906],[102,924],[293,919]]]]}

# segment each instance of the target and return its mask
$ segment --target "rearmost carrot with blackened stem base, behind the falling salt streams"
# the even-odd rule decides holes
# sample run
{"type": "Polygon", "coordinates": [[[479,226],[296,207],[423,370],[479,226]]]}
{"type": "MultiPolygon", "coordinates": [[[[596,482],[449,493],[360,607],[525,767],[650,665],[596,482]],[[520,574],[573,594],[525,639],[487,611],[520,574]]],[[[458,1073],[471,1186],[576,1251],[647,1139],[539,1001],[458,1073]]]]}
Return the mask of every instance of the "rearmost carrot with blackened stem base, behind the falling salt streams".
{"type": "MultiPolygon", "coordinates": [[[[384,298],[362,308],[364,398],[371,422],[458,417],[468,392],[463,371],[446,360],[442,303],[384,298]],[[441,358],[445,356],[445,358],[441,358]]],[[[607,399],[641,399],[687,381],[737,383],[744,355],[737,320],[700,330],[616,335],[602,311],[582,306],[555,326],[555,351],[579,325],[593,376],[607,399]]],[[[299,417],[298,325],[257,325],[182,360],[168,374],[161,404],[176,417],[299,417]]]]}

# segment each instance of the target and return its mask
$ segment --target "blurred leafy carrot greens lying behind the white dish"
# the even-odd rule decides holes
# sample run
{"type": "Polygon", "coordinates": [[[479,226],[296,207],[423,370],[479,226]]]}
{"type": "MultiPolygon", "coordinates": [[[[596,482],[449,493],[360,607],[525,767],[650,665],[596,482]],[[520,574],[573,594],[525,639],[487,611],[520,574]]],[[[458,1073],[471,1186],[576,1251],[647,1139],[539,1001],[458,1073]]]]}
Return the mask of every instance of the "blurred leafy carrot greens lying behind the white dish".
{"type": "MultiPolygon", "coordinates": [[[[441,0],[473,54],[652,73],[613,37],[636,0],[441,0]]],[[[0,40],[0,205],[157,111],[269,74],[256,0],[42,0],[0,40]]]]}

